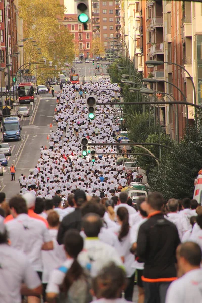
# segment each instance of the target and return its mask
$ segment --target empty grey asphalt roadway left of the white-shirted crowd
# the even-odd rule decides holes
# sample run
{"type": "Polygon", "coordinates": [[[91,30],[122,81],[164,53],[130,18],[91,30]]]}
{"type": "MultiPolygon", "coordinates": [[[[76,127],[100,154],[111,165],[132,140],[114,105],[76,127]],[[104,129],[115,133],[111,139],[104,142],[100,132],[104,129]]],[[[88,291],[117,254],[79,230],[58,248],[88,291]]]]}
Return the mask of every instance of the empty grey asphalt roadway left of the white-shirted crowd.
{"type": "MultiPolygon", "coordinates": [[[[55,92],[60,90],[59,85],[54,86],[55,92]]],[[[22,146],[23,140],[19,142],[9,142],[12,146],[12,155],[9,156],[7,167],[4,167],[3,179],[4,186],[1,191],[5,192],[6,199],[10,199],[13,195],[20,192],[18,179],[23,173],[26,177],[33,170],[40,158],[40,147],[47,145],[47,135],[54,129],[54,110],[56,105],[56,93],[54,98],[51,94],[41,94],[39,102],[34,103],[34,109],[30,109],[30,117],[21,121],[22,138],[24,146],[20,149],[19,157],[16,154],[22,146]],[[52,124],[52,128],[50,127],[52,124]],[[11,181],[10,169],[11,164],[16,166],[15,181],[11,181]]]]}

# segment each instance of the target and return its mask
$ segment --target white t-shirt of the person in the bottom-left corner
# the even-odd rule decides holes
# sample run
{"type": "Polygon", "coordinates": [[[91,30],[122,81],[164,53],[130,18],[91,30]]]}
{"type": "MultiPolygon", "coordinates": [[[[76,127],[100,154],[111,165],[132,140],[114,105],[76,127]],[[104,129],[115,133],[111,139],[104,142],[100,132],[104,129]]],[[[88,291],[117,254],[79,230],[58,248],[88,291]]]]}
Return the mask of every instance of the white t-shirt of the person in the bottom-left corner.
{"type": "Polygon", "coordinates": [[[1,303],[21,303],[21,285],[29,289],[40,286],[41,281],[33,270],[29,258],[7,244],[0,245],[0,301],[1,303]]]}

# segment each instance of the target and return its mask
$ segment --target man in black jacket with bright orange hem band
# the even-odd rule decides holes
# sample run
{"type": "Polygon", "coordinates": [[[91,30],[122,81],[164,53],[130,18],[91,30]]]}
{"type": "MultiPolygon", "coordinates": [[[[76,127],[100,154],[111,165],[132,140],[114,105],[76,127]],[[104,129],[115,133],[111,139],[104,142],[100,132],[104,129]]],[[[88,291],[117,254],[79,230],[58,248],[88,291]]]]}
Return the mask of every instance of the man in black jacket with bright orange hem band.
{"type": "Polygon", "coordinates": [[[171,282],[176,280],[176,249],[180,239],[175,224],[164,218],[164,199],[158,192],[148,195],[141,208],[148,220],[139,228],[137,256],[145,262],[142,275],[145,303],[164,303],[171,282]]]}

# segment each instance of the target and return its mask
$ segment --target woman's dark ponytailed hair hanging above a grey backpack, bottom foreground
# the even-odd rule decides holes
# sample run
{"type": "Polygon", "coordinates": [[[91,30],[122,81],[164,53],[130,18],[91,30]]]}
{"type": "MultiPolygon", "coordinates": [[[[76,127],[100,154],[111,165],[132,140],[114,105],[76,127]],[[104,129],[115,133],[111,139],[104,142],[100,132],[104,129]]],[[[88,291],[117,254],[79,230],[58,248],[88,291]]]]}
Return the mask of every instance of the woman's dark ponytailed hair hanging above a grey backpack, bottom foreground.
{"type": "Polygon", "coordinates": [[[63,289],[68,291],[74,281],[85,276],[84,270],[77,261],[79,253],[83,250],[84,241],[77,230],[68,230],[64,237],[64,247],[67,254],[74,259],[63,280],[63,289]]]}

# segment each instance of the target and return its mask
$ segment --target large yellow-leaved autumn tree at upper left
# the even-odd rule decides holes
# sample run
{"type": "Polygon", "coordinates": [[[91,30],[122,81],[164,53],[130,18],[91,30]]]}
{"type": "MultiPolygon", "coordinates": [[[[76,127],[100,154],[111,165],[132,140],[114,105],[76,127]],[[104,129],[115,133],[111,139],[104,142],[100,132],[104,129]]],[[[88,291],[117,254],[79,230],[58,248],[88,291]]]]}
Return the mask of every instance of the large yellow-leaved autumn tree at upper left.
{"type": "Polygon", "coordinates": [[[73,36],[58,22],[57,16],[62,20],[64,14],[64,6],[59,0],[20,0],[19,6],[24,38],[33,37],[24,43],[25,62],[37,61],[41,57],[37,48],[53,65],[63,66],[67,58],[72,62],[73,36]]]}

